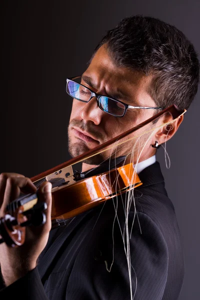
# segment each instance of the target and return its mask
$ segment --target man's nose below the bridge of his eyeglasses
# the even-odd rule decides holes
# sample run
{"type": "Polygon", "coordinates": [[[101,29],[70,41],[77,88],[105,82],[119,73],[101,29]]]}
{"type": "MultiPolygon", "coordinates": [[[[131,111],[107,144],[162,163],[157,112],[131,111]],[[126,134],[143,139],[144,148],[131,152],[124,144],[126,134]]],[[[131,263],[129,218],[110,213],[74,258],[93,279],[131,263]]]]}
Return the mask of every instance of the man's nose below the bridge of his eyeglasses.
{"type": "Polygon", "coordinates": [[[82,105],[80,116],[83,120],[92,121],[95,125],[98,125],[103,113],[105,112],[98,107],[97,98],[92,97],[89,102],[82,105]]]}

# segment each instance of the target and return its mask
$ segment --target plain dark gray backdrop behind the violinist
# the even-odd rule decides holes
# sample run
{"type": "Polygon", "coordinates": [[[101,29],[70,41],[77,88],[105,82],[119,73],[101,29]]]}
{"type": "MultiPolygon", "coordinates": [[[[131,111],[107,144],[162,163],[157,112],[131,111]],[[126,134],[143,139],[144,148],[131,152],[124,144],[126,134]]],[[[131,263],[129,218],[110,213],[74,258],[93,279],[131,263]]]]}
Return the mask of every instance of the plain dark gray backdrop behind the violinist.
{"type": "MultiPolygon", "coordinates": [[[[199,0],[1,1],[0,172],[33,176],[69,158],[71,102],[65,78],[80,74],[96,43],[121,18],[158,17],[182,30],[200,50],[199,0]]],[[[185,251],[180,300],[199,292],[199,95],[160,161],[185,251]]],[[[145,257],[144,257],[145,259],[145,257]]]]}

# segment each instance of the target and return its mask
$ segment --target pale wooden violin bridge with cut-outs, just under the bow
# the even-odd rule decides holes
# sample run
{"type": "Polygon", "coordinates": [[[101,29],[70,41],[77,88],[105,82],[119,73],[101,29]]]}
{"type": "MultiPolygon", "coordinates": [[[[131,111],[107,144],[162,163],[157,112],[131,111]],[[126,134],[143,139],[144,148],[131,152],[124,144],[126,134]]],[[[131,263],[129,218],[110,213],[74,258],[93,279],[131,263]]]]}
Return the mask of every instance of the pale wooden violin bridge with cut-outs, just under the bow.
{"type": "Polygon", "coordinates": [[[74,181],[74,177],[73,177],[72,166],[71,165],[66,166],[66,167],[64,167],[60,170],[57,170],[56,172],[53,172],[45,177],[46,181],[50,181],[51,179],[58,179],[58,178],[64,179],[65,183],[67,183],[69,185],[74,183],[75,181],[74,181]]]}

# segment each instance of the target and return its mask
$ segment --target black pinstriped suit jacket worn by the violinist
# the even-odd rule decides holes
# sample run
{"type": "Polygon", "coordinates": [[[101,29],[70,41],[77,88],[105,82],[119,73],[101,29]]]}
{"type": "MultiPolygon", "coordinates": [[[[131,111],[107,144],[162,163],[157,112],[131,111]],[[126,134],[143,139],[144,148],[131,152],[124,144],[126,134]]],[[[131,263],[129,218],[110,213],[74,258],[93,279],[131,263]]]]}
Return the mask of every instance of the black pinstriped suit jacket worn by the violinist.
{"type": "Polygon", "coordinates": [[[0,299],[129,300],[130,292],[134,300],[177,299],[184,259],[174,207],[158,162],[139,177],[128,223],[123,196],[52,229],[37,267],[1,289],[0,299]]]}

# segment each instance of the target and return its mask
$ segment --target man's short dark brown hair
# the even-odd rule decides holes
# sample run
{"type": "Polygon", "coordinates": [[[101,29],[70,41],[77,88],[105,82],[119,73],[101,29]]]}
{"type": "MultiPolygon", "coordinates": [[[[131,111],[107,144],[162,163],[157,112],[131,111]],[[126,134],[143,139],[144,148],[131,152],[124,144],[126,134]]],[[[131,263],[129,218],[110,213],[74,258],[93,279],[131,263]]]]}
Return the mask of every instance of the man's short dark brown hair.
{"type": "Polygon", "coordinates": [[[149,92],[157,106],[189,107],[197,92],[199,61],[180,30],[159,19],[135,15],[108,30],[93,55],[102,44],[116,66],[153,75],[149,92]]]}

